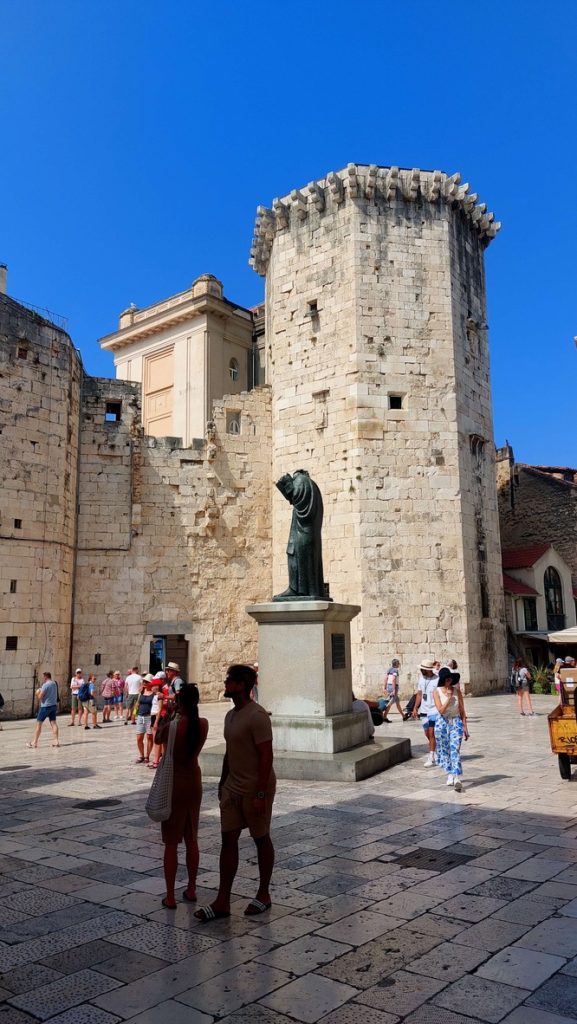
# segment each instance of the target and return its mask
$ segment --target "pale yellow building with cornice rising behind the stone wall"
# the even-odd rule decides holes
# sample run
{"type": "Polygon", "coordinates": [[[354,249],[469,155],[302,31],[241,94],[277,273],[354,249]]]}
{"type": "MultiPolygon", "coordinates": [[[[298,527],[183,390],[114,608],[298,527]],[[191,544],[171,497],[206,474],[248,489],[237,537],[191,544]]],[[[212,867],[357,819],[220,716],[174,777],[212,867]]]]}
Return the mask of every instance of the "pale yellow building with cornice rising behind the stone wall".
{"type": "MultiPolygon", "coordinates": [[[[204,437],[215,399],[258,382],[252,313],[224,298],[210,273],[145,309],[125,309],[100,345],[114,353],[118,380],[141,385],[145,433],[184,446],[204,437]]],[[[235,410],[229,430],[240,431],[235,410]]]]}

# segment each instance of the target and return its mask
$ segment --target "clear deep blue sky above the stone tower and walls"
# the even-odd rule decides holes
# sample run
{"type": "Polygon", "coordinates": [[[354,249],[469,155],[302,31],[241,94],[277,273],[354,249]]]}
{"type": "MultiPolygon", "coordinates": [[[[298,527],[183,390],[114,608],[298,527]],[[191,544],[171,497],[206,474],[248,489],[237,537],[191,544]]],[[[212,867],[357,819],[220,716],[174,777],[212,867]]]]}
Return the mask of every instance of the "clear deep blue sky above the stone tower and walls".
{"type": "Polygon", "coordinates": [[[0,262],[90,373],[130,302],[260,300],[257,204],[351,161],[460,170],[487,253],[495,439],[575,465],[577,5],[3,0],[0,262]]]}

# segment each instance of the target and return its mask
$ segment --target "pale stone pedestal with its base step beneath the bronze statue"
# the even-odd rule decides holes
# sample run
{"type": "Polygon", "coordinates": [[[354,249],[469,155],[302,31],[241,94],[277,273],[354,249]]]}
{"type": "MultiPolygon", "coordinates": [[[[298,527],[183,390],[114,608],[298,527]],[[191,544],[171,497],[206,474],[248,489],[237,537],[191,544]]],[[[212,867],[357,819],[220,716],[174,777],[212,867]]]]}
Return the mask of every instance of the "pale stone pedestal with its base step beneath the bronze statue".
{"type": "MultiPolygon", "coordinates": [[[[258,701],[271,712],[279,778],[353,781],[411,756],[408,739],[369,740],[351,710],[351,622],[356,604],[271,601],[247,607],[258,623],[258,701]]],[[[219,773],[221,750],[204,752],[219,773]]]]}

